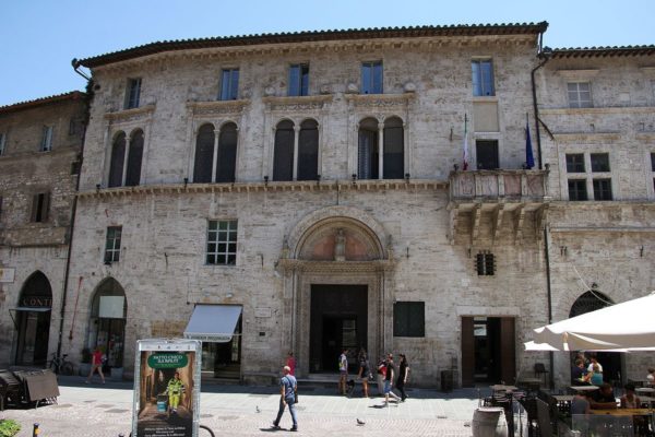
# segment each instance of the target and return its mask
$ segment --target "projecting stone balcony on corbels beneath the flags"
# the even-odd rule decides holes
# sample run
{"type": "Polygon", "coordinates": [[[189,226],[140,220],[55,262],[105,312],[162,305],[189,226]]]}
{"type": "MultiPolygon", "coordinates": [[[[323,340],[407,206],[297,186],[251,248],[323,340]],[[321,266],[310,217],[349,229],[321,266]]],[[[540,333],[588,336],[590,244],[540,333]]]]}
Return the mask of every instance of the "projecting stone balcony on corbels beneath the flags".
{"type": "Polygon", "coordinates": [[[549,201],[548,170],[451,172],[451,243],[462,236],[467,241],[460,243],[469,245],[479,239],[493,243],[501,234],[515,243],[528,236],[538,239],[549,201]]]}

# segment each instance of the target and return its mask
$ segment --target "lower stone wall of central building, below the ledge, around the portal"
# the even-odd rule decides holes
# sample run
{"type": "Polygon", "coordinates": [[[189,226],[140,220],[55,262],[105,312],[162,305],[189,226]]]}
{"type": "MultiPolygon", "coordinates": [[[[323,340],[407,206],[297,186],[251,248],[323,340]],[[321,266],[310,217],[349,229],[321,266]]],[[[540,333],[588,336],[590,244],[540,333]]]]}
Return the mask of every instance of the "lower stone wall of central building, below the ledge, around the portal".
{"type": "MultiPolygon", "coordinates": [[[[64,349],[74,356],[83,347],[95,287],[112,276],[124,287],[128,299],[128,345],[138,338],[169,334],[171,327],[181,334],[193,303],[240,304],[243,373],[275,373],[289,334],[282,331],[283,283],[274,273],[275,262],[285,235],[303,216],[334,202],[334,191],[83,199],[75,234],[80,246],[75,244],[73,249],[71,276],[83,276],[84,284],[73,344],[67,342],[64,349]],[[204,265],[209,218],[238,220],[236,265],[204,265]],[[120,262],[107,267],[103,264],[104,237],[106,227],[114,225],[123,226],[122,253],[120,262]],[[254,310],[260,307],[271,308],[274,316],[257,318],[254,310]],[[265,332],[265,339],[260,339],[259,332],[265,332]]],[[[450,369],[453,357],[457,359],[460,316],[516,316],[519,355],[521,342],[526,340],[522,332],[533,321],[546,319],[543,300],[531,292],[543,290],[545,282],[543,271],[535,272],[535,265],[543,265],[538,245],[497,240],[497,275],[477,276],[465,248],[450,245],[445,237],[446,202],[444,191],[432,190],[346,192],[340,197],[340,204],[367,211],[393,235],[397,267],[389,274],[391,298],[426,303],[426,338],[398,338],[392,343],[393,351],[412,356],[417,381],[422,385],[437,385],[439,370],[450,369]]],[[[71,311],[69,305],[69,323],[71,311]]],[[[128,347],[126,367],[132,362],[133,352],[128,347]]]]}

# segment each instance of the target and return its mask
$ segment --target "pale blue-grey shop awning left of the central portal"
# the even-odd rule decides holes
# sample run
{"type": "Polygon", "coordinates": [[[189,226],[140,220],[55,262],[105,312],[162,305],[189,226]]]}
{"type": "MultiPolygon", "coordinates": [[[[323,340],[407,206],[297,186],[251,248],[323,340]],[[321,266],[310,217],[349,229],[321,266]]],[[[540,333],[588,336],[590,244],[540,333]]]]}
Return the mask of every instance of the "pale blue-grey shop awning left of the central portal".
{"type": "Polygon", "coordinates": [[[184,338],[227,343],[235,334],[241,309],[240,305],[196,305],[184,329],[184,338]]]}

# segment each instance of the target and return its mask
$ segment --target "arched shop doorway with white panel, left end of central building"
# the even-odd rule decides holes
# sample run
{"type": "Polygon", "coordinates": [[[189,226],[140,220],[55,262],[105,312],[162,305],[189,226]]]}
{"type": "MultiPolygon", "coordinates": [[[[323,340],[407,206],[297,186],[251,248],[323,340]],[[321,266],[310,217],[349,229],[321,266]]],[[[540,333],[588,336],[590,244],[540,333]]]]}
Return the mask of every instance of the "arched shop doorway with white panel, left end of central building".
{"type": "Polygon", "coordinates": [[[99,347],[107,355],[107,367],[122,367],[128,303],[123,287],[108,277],[97,287],[91,303],[90,351],[99,347]]]}

